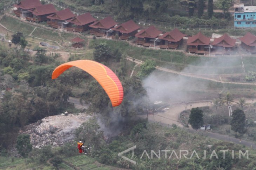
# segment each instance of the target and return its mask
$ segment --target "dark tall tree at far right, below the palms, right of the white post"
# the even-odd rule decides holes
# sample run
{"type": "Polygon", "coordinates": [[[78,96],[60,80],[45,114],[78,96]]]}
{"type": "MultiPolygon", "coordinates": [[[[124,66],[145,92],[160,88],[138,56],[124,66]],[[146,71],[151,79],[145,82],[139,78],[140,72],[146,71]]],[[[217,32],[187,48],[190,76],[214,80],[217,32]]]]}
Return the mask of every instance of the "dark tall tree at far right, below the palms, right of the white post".
{"type": "Polygon", "coordinates": [[[241,109],[236,109],[233,111],[231,120],[231,130],[240,134],[241,136],[246,133],[245,128],[245,113],[241,109]]]}

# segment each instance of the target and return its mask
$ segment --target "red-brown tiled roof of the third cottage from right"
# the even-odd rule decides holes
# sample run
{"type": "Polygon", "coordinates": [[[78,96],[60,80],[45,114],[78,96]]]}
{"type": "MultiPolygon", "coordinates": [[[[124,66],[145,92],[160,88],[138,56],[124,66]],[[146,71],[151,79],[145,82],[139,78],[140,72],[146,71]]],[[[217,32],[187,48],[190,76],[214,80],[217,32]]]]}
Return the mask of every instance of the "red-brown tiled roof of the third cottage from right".
{"type": "Polygon", "coordinates": [[[187,44],[188,45],[209,45],[210,44],[210,39],[209,37],[204,36],[199,32],[198,34],[188,37],[187,44]]]}

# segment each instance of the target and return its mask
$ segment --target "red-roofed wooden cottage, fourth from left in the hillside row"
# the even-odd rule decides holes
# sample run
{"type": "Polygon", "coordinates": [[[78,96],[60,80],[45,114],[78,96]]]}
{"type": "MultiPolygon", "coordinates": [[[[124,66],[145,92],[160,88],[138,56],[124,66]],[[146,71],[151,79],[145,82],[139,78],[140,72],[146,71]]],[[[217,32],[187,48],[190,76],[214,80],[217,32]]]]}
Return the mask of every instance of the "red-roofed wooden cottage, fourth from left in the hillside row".
{"type": "Polygon", "coordinates": [[[90,13],[85,13],[68,20],[70,26],[68,31],[83,32],[89,29],[89,25],[97,21],[90,13]]]}

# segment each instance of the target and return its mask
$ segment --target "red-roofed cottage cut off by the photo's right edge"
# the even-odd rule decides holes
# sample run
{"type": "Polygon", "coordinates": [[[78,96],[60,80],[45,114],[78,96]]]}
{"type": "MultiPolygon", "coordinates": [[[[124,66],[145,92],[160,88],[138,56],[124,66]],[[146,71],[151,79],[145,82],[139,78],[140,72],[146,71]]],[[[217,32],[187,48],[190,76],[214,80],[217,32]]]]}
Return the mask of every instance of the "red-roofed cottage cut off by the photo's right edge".
{"type": "Polygon", "coordinates": [[[241,40],[241,46],[247,50],[248,52],[250,52],[250,54],[252,53],[256,53],[256,36],[251,34],[250,32],[247,32],[245,34],[245,36],[243,36],[242,38],[239,38],[241,40]]]}

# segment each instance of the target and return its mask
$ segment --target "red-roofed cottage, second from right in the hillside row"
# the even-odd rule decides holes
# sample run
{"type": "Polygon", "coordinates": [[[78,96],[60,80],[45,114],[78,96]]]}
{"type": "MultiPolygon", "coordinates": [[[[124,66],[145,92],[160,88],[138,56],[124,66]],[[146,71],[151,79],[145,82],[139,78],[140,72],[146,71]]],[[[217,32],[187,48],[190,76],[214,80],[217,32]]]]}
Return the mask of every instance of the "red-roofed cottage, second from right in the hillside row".
{"type": "Polygon", "coordinates": [[[233,48],[236,46],[236,39],[230,38],[227,34],[219,38],[214,38],[210,48],[211,53],[215,54],[231,54],[233,48]]]}

